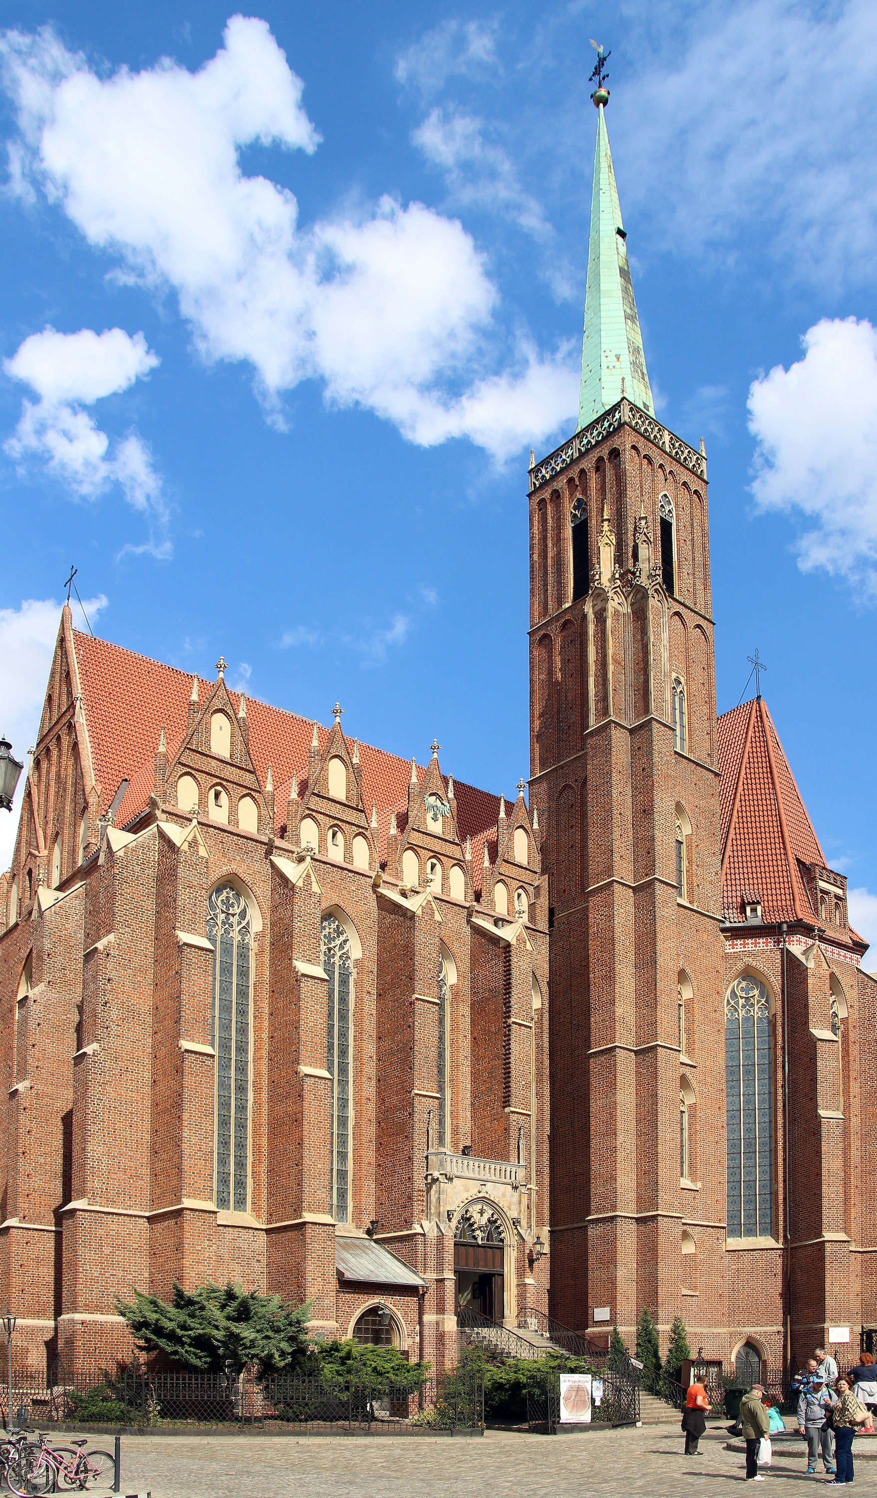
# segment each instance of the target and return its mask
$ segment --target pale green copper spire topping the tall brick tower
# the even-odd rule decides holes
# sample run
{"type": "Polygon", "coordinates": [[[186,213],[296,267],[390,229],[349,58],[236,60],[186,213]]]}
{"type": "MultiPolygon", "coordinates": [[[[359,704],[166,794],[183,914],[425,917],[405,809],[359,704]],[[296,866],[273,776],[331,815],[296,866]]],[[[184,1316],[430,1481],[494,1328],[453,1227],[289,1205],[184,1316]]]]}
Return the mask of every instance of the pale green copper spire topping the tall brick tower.
{"type": "Polygon", "coordinates": [[[593,94],[597,106],[597,150],[591,195],[585,336],[582,340],[582,394],[579,427],[627,397],[654,415],[651,388],[642,352],[642,336],[633,282],[627,264],[627,235],[621,222],[618,189],[603,109],[609,93],[602,81],[593,94]]]}

